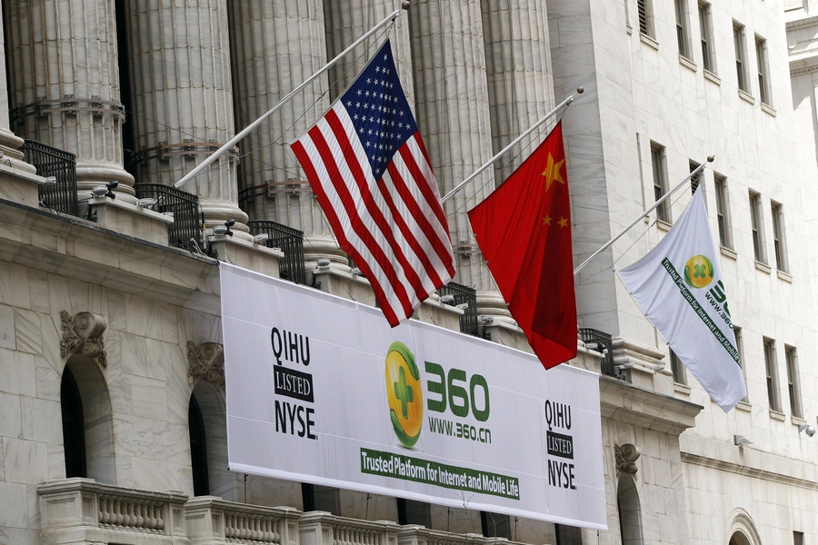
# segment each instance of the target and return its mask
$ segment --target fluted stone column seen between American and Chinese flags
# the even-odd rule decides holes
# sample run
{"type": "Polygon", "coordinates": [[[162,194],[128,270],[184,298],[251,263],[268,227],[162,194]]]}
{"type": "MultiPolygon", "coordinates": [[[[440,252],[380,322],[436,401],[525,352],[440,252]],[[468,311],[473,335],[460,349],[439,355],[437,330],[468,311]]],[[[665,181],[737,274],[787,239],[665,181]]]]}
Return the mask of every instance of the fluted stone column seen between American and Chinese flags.
{"type": "MultiPolygon", "coordinates": [[[[492,156],[480,0],[415,0],[409,10],[416,117],[443,195],[492,156]]],[[[455,280],[477,290],[478,312],[508,315],[466,212],[494,189],[491,169],[444,204],[455,280]]]]}

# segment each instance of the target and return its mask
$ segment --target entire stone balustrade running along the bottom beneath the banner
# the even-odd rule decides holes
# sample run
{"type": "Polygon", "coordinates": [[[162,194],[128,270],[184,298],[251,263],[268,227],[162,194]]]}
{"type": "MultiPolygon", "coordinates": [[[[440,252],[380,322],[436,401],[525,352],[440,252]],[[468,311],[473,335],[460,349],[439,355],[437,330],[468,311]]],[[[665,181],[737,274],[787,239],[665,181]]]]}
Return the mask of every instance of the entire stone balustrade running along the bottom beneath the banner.
{"type": "Polygon", "coordinates": [[[358,520],[324,511],[264,507],[214,496],[188,498],[100,484],[91,479],[44,481],[37,491],[41,543],[69,545],[522,545],[503,538],[358,520]]]}

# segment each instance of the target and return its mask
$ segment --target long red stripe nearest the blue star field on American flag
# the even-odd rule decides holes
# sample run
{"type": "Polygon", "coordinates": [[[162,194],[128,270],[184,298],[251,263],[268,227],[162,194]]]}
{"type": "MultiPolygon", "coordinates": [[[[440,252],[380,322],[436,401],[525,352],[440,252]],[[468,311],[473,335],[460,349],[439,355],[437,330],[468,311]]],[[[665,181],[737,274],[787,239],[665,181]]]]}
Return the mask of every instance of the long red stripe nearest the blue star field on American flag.
{"type": "MultiPolygon", "coordinates": [[[[369,183],[366,180],[366,176],[362,169],[362,165],[359,162],[357,155],[355,155],[352,145],[350,144],[349,134],[346,133],[344,130],[344,125],[341,123],[341,120],[338,118],[338,114],[334,110],[330,110],[326,114],[326,121],[329,124],[330,128],[335,135],[335,139],[340,144],[341,153],[344,154],[344,159],[346,160],[347,165],[349,166],[350,172],[353,174],[353,178],[355,183],[358,186],[358,191],[361,192],[361,196],[364,199],[364,206],[366,207],[366,211],[369,213],[370,217],[373,219],[375,225],[377,225],[378,229],[380,230],[381,234],[384,236],[386,243],[388,244],[388,248],[381,248],[384,252],[384,255],[387,259],[389,259],[389,255],[387,253],[391,253],[394,256],[394,259],[400,263],[404,276],[406,277],[406,281],[409,282],[411,288],[414,290],[415,295],[417,296],[418,301],[423,301],[424,298],[428,295],[426,289],[424,288],[423,282],[421,282],[420,277],[418,276],[417,272],[414,269],[409,261],[406,259],[403,250],[401,249],[400,245],[395,240],[395,234],[393,231],[392,226],[386,221],[384,217],[384,213],[378,208],[376,203],[374,202],[374,194],[372,193],[372,188],[369,186],[369,183]]],[[[369,164],[365,165],[366,168],[369,168],[369,164]]],[[[337,184],[336,184],[337,185],[337,184]]],[[[390,203],[391,198],[386,197],[386,205],[393,207],[390,203]]],[[[394,216],[393,216],[394,219],[394,216]]],[[[358,231],[359,229],[365,229],[364,224],[362,223],[360,227],[356,227],[353,225],[353,228],[358,231]]],[[[405,231],[403,232],[405,235],[405,231]]],[[[392,260],[389,260],[389,263],[394,263],[392,260]]],[[[404,286],[404,288],[408,289],[410,286],[404,286]]],[[[408,312],[411,314],[412,310],[408,312]]]]}

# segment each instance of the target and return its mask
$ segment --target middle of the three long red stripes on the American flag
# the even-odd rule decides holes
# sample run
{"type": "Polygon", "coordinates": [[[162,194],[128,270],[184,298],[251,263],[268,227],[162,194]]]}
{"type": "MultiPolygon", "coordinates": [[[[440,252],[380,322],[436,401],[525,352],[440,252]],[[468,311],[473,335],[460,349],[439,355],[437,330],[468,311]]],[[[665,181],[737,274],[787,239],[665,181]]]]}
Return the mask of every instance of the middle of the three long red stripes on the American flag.
{"type": "MultiPolygon", "coordinates": [[[[341,198],[341,203],[343,203],[344,210],[346,211],[347,217],[349,217],[350,229],[352,229],[354,233],[356,233],[364,242],[370,253],[372,253],[374,260],[380,265],[387,281],[391,284],[392,291],[397,296],[401,307],[403,307],[404,315],[411,316],[412,312],[414,311],[414,306],[412,305],[412,302],[409,301],[409,295],[406,292],[406,287],[404,286],[404,283],[400,282],[398,279],[397,274],[394,272],[392,263],[390,263],[389,258],[385,255],[383,248],[381,248],[381,245],[374,240],[373,234],[366,229],[361,217],[358,215],[358,212],[355,209],[353,196],[351,193],[349,193],[349,188],[347,188],[346,184],[342,181],[343,175],[338,170],[338,165],[335,163],[334,156],[329,149],[329,144],[327,144],[326,140],[324,139],[324,134],[321,133],[321,130],[317,126],[310,129],[307,134],[310,135],[315,149],[318,151],[318,154],[321,155],[321,159],[324,162],[327,173],[329,174],[329,179],[332,181],[335,191],[341,198]]],[[[349,145],[348,141],[346,142],[346,145],[349,145]]],[[[358,255],[360,257],[360,254],[358,255]]],[[[363,257],[361,258],[361,261],[365,263],[363,257]]],[[[358,268],[361,268],[361,264],[362,263],[358,263],[358,261],[355,260],[355,265],[357,265],[358,268]]],[[[373,280],[370,282],[373,284],[378,283],[374,276],[373,280]]]]}

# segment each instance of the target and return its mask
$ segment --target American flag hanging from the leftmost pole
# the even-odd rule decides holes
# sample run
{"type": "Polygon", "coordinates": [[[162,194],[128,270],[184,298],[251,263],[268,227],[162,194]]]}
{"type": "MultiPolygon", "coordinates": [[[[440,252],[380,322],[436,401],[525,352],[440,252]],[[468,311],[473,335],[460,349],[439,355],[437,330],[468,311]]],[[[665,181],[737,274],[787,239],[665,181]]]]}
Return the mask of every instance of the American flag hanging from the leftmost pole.
{"type": "Polygon", "coordinates": [[[393,327],[454,276],[448,224],[389,41],[293,152],[393,327]]]}

